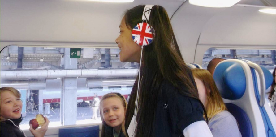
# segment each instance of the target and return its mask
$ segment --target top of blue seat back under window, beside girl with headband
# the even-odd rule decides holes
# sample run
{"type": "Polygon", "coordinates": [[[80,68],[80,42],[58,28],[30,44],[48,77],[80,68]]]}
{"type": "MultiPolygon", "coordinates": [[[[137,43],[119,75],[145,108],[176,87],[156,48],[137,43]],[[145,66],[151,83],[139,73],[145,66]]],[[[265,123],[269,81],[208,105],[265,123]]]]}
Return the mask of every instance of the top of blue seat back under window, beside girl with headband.
{"type": "Polygon", "coordinates": [[[99,137],[99,125],[86,127],[69,127],[58,130],[59,137],[99,137]]]}

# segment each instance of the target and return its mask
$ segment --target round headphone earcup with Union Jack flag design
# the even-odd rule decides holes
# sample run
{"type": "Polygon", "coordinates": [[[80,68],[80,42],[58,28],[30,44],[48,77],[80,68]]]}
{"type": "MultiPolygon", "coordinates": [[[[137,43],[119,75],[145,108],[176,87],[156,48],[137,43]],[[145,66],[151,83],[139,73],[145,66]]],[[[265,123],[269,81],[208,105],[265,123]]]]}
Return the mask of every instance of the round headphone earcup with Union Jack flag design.
{"type": "Polygon", "coordinates": [[[153,36],[153,27],[148,23],[139,23],[132,29],[132,39],[138,45],[149,45],[153,41],[153,36]]]}

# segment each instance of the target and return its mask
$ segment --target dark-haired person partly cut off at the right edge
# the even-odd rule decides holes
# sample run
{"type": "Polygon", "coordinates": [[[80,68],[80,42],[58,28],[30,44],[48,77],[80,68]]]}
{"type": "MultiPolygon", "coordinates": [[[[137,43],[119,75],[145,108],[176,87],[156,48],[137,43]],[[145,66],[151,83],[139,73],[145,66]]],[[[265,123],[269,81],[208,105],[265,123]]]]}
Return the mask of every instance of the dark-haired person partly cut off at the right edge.
{"type": "Polygon", "coordinates": [[[273,82],[270,87],[270,91],[268,92],[268,100],[270,101],[270,107],[274,114],[276,115],[276,67],[274,68],[274,71],[272,73],[273,75],[273,82]]]}

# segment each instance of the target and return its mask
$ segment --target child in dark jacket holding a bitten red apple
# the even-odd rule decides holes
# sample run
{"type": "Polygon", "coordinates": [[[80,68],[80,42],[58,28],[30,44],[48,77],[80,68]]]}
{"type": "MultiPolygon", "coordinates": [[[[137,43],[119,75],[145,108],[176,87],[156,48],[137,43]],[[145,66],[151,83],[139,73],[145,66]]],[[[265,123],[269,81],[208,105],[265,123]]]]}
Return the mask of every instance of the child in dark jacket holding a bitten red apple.
{"type": "MultiPolygon", "coordinates": [[[[22,121],[22,101],[21,94],[13,87],[0,88],[0,119],[1,137],[25,137],[25,133],[19,128],[22,121]]],[[[34,137],[43,137],[48,129],[49,120],[45,117],[45,123],[41,128],[34,130],[30,126],[30,131],[34,137]]]]}

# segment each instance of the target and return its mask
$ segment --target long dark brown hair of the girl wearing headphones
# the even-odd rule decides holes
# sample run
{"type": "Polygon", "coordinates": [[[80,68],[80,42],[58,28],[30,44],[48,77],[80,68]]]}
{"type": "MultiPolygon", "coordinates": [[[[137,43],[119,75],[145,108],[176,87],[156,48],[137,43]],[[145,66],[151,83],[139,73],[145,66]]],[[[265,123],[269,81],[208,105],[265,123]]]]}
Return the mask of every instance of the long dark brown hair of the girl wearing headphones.
{"type": "MultiPolygon", "coordinates": [[[[144,7],[145,5],[139,5],[126,11],[124,21],[128,29],[132,29],[141,22],[144,7]]],[[[153,42],[144,47],[140,62],[139,110],[136,117],[137,137],[155,136],[154,117],[157,113],[155,112],[157,95],[165,81],[170,82],[181,95],[199,100],[191,70],[185,65],[182,58],[166,10],[162,6],[153,6],[148,23],[154,28],[155,36],[153,42]]],[[[138,77],[132,88],[127,106],[126,129],[134,115],[137,84],[138,77]]]]}

